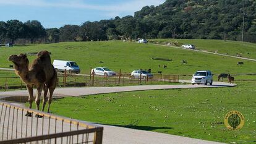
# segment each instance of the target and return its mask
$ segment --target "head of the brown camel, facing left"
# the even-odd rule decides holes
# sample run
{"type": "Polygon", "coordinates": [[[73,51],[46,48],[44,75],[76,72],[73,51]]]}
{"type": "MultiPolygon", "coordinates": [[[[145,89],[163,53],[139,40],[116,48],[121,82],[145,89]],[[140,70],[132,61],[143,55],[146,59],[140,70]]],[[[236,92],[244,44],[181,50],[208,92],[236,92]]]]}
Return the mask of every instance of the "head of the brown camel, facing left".
{"type": "Polygon", "coordinates": [[[26,54],[11,55],[8,60],[14,63],[14,68],[16,70],[21,70],[22,67],[28,69],[29,61],[26,54]]]}

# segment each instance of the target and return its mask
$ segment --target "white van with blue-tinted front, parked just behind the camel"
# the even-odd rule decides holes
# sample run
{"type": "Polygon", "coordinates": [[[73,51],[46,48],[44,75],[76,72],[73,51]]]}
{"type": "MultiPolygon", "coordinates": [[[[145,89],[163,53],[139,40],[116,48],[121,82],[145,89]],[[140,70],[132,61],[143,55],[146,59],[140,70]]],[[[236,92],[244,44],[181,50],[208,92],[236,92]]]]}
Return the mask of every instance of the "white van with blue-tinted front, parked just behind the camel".
{"type": "Polygon", "coordinates": [[[61,60],[54,60],[53,61],[54,69],[58,72],[64,72],[65,69],[69,73],[80,73],[80,68],[74,61],[61,61],[61,60]]]}

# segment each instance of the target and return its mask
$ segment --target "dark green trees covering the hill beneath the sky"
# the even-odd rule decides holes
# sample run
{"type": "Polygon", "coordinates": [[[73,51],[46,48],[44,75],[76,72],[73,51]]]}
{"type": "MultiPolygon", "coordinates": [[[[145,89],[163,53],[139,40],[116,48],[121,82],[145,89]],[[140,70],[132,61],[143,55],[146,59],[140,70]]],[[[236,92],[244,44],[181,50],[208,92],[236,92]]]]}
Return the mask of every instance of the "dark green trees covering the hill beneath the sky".
{"type": "Polygon", "coordinates": [[[0,41],[56,43],[137,38],[200,38],[256,42],[256,2],[250,0],[166,0],[134,16],[82,25],[43,28],[37,20],[0,22],[0,41]]]}

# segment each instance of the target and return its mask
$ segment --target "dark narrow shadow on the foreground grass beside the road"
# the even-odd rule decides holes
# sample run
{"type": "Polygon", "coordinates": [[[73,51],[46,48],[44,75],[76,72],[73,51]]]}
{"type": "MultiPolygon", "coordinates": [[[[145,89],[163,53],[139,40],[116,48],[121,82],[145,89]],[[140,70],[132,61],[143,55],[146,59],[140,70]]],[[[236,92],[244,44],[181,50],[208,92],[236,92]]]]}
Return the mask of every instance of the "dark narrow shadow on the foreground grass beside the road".
{"type": "MultiPolygon", "coordinates": [[[[103,125],[111,125],[111,124],[103,124],[103,125]]],[[[137,130],[160,130],[160,129],[173,129],[173,127],[151,127],[151,126],[139,126],[139,125],[111,125],[114,127],[125,127],[129,129],[137,129],[137,130]]]]}

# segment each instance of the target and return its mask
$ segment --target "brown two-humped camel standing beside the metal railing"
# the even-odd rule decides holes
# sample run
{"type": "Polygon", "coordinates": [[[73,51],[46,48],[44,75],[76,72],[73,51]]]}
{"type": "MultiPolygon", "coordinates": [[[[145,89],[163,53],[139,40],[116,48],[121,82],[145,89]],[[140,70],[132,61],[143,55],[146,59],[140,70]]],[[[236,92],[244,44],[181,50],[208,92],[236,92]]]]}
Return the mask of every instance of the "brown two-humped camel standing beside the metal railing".
{"type": "MultiPolygon", "coordinates": [[[[49,56],[48,51],[40,51],[37,54],[36,59],[33,63],[28,66],[28,58],[26,54],[11,55],[8,58],[9,61],[14,63],[15,74],[19,75],[20,79],[25,83],[29,96],[29,108],[32,108],[33,103],[33,85],[36,87],[36,109],[39,111],[40,109],[40,97],[42,90],[43,94],[43,108],[42,111],[45,110],[45,104],[47,101],[47,93],[49,90],[49,98],[48,98],[48,110],[51,104],[53,91],[56,88],[58,77],[57,72],[51,64],[51,57],[49,56]]],[[[31,116],[28,112],[26,116],[31,116]]]]}

